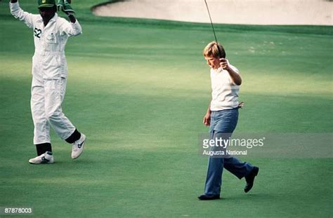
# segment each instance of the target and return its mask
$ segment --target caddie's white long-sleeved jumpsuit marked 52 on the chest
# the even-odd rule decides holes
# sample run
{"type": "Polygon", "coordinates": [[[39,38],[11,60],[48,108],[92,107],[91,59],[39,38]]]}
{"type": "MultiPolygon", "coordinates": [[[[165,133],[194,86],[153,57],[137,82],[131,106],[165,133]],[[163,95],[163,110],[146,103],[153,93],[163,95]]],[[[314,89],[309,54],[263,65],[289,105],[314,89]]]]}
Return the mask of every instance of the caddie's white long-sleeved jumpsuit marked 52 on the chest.
{"type": "Polygon", "coordinates": [[[18,2],[10,3],[10,8],[15,18],[34,29],[31,88],[34,144],[51,143],[50,124],[62,139],[67,139],[75,127],[61,108],[67,79],[65,45],[68,36],[81,34],[81,26],[78,21],[68,22],[55,13],[44,27],[41,15],[22,11],[18,2]]]}

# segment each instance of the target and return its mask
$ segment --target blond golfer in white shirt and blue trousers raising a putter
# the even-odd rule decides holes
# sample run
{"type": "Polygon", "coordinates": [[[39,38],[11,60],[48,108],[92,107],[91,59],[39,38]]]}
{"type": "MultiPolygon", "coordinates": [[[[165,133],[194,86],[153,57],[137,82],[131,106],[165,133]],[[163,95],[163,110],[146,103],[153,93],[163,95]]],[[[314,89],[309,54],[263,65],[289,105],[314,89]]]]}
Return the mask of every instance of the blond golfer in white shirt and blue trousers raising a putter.
{"type": "MultiPolygon", "coordinates": [[[[204,125],[209,126],[211,139],[230,137],[235,130],[238,119],[238,92],[242,78],[236,67],[229,64],[225,58],[226,51],[221,44],[212,41],[203,50],[204,59],[211,68],[211,103],[204,116],[204,125]]],[[[231,156],[209,156],[204,194],[200,200],[214,200],[220,198],[223,168],[242,179],[245,177],[247,185],[245,192],[252,189],[254,177],[259,168],[250,163],[242,163],[231,156]]]]}

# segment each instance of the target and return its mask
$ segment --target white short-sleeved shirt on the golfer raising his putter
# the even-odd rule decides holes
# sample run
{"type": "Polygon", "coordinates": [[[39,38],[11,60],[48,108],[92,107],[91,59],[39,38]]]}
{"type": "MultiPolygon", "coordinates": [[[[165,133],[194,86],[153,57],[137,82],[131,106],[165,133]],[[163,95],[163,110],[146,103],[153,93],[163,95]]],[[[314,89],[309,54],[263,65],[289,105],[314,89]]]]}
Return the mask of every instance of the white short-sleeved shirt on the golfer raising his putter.
{"type": "MultiPolygon", "coordinates": [[[[230,67],[239,74],[236,67],[230,67]]],[[[238,107],[240,86],[235,85],[230,74],[222,67],[211,68],[211,111],[221,111],[238,107]]]]}

